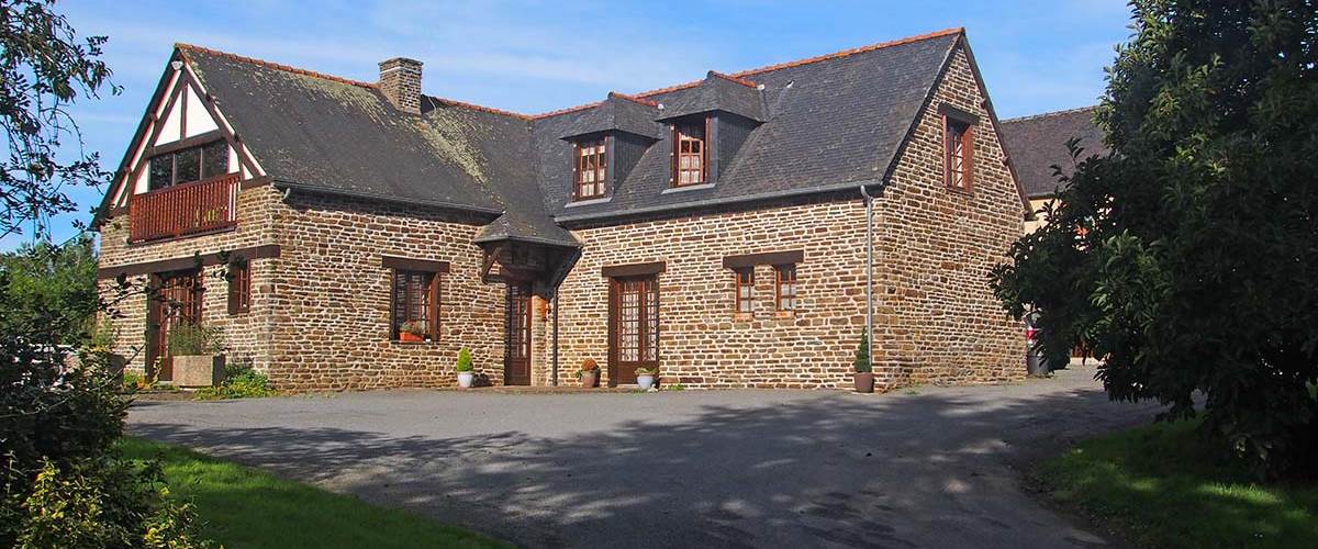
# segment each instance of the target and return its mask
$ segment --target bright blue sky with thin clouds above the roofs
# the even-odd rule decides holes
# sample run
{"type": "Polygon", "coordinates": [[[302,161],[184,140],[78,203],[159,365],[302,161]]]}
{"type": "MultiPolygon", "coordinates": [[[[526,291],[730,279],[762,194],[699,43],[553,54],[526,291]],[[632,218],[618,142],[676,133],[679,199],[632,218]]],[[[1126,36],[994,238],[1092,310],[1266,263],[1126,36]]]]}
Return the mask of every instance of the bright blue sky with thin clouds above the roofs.
{"type": "MultiPolygon", "coordinates": [[[[1053,1],[279,1],[78,0],[57,5],[83,34],[105,34],[120,96],[75,117],[107,169],[132,138],[174,42],[373,82],[376,63],[424,62],[424,91],[544,112],[847,47],[963,26],[1003,118],[1093,104],[1124,42],[1120,0],[1053,1]]],[[[78,190],[75,234],[98,190],[78,190]]],[[[28,240],[0,240],[8,250],[28,240]]]]}

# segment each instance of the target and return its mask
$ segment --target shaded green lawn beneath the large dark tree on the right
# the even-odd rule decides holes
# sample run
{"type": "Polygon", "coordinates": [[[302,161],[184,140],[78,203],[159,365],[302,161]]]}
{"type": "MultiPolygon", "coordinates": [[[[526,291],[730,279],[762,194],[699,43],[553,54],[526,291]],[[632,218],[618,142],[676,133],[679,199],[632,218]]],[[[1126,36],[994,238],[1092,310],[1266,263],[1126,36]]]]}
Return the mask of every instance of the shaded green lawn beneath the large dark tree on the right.
{"type": "Polygon", "coordinates": [[[1195,432],[1157,424],[1079,444],[1036,479],[1056,500],[1156,548],[1318,548],[1318,486],[1259,484],[1195,432]]]}

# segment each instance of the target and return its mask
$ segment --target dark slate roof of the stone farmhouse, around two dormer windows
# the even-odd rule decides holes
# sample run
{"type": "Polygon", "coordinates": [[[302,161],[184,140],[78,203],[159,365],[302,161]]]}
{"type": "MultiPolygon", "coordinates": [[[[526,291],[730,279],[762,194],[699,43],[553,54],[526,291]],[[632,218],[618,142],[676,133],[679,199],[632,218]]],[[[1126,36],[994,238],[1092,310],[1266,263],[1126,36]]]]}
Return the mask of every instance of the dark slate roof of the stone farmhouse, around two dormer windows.
{"type": "Polygon", "coordinates": [[[560,226],[692,205],[836,191],[882,180],[962,29],[527,116],[424,96],[401,112],[374,84],[179,45],[275,186],[486,215],[477,241],[579,245],[560,226]],[[659,109],[663,104],[664,109],[659,109]],[[755,122],[717,184],[672,192],[659,120],[731,112],[755,122]],[[569,205],[564,138],[656,140],[608,200],[569,205]],[[664,192],[668,191],[668,192],[664,192]]]}

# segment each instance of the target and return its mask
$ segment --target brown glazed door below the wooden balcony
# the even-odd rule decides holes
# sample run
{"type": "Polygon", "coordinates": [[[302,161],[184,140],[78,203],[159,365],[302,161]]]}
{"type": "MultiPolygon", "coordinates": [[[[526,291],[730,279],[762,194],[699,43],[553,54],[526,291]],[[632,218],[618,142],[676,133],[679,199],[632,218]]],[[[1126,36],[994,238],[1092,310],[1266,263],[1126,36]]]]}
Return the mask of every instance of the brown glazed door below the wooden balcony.
{"type": "Polygon", "coordinates": [[[169,355],[169,332],[182,323],[202,320],[202,273],[186,270],[152,276],[157,290],[146,301],[146,374],[159,380],[174,379],[169,355]]]}

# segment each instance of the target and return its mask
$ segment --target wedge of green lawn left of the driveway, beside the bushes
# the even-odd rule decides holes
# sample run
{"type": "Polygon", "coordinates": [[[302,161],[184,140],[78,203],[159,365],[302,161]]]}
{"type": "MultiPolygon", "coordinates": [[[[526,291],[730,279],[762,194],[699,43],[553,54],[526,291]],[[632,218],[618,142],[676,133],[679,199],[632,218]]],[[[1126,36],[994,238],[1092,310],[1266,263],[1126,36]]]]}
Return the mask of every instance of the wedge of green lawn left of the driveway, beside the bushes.
{"type": "Polygon", "coordinates": [[[202,535],[227,548],[502,548],[406,511],[277,478],[182,446],[125,437],[124,454],[159,458],[174,498],[196,506],[202,535]]]}

